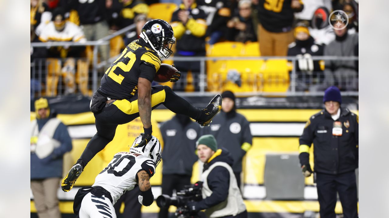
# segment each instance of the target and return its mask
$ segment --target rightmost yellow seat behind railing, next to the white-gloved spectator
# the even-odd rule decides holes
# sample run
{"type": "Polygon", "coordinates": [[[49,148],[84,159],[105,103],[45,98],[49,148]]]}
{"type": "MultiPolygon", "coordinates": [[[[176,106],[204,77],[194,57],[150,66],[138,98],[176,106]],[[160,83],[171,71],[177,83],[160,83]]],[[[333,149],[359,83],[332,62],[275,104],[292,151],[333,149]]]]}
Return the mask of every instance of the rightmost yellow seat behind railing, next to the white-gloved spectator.
{"type": "Polygon", "coordinates": [[[287,60],[268,60],[261,67],[264,92],[286,92],[289,87],[287,60]]]}

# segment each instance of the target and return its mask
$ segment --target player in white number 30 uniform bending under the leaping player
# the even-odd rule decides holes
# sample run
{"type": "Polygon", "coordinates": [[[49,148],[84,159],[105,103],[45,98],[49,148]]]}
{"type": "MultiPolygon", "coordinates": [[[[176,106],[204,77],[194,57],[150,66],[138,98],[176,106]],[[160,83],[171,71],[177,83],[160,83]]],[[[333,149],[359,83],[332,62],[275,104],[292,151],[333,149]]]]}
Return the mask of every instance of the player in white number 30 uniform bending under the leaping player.
{"type": "Polygon", "coordinates": [[[74,197],[74,213],[79,218],[112,217],[116,218],[114,204],[127,190],[139,185],[142,195],[138,201],[150,206],[154,201],[150,178],[161,161],[161,145],[152,136],[143,147],[137,147],[142,141],[138,136],[130,152],[115,154],[112,161],[96,176],[91,187],[82,187],[74,197]]]}

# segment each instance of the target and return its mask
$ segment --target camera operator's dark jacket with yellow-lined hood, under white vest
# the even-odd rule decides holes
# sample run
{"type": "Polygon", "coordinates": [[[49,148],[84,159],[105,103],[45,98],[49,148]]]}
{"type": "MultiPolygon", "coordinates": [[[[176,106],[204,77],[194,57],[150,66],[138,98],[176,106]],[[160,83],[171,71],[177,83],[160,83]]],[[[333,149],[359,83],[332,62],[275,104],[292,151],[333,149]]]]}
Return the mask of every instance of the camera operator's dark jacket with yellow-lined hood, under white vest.
{"type": "MultiPolygon", "coordinates": [[[[217,155],[217,151],[215,154],[217,155]]],[[[211,159],[209,163],[204,164],[203,171],[207,170],[212,164],[219,161],[228,163],[230,166],[234,163],[230,152],[222,148],[221,154],[211,159]]],[[[216,166],[209,173],[207,183],[210,190],[212,190],[212,194],[211,196],[196,202],[196,208],[200,210],[215,206],[227,199],[228,189],[230,188],[230,172],[223,166],[216,166]]]]}

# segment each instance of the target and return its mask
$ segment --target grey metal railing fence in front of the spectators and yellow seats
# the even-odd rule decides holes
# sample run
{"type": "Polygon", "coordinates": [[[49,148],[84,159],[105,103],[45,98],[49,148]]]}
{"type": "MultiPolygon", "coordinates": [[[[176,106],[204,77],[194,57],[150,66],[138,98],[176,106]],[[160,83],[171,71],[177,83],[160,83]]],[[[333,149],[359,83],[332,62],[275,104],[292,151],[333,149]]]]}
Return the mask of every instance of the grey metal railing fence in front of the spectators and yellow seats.
{"type": "MultiPolygon", "coordinates": [[[[81,93],[90,96],[100,85],[106,68],[117,58],[98,63],[98,46],[133,29],[128,26],[97,41],[85,43],[31,43],[32,47],[93,45],[93,59],[35,59],[31,62],[31,97],[81,93]]],[[[237,96],[319,96],[329,85],[344,85],[342,95],[358,96],[358,73],[334,75],[330,71],[296,71],[298,57],[171,57],[174,62],[196,62],[199,72],[184,72],[173,84],[183,96],[208,96],[233,89],[237,96]],[[347,85],[352,84],[352,85],[347,85]]],[[[312,61],[358,61],[358,57],[313,56],[312,61]]],[[[172,85],[170,85],[172,86],[172,85]]]]}

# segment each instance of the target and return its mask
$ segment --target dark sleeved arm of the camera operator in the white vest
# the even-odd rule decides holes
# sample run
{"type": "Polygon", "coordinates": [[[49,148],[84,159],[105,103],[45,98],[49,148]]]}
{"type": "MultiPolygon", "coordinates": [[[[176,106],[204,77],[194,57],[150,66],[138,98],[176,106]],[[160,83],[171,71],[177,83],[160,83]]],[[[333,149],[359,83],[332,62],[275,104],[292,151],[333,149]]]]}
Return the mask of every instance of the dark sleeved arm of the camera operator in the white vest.
{"type": "Polygon", "coordinates": [[[223,166],[216,166],[209,173],[207,182],[212,194],[198,202],[197,206],[200,210],[215,206],[227,199],[230,187],[230,172],[223,166]]]}

